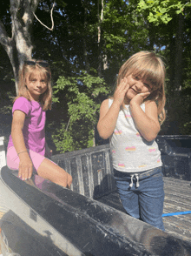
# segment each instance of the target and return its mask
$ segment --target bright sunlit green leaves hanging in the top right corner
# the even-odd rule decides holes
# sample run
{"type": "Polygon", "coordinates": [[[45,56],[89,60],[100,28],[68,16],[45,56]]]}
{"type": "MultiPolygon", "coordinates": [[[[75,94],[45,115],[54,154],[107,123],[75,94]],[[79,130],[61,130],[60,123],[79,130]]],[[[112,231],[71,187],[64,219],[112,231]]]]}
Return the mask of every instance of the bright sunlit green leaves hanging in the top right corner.
{"type": "Polygon", "coordinates": [[[168,24],[174,14],[183,14],[185,6],[190,7],[191,3],[179,0],[140,0],[137,5],[139,12],[147,11],[149,23],[168,24]]]}

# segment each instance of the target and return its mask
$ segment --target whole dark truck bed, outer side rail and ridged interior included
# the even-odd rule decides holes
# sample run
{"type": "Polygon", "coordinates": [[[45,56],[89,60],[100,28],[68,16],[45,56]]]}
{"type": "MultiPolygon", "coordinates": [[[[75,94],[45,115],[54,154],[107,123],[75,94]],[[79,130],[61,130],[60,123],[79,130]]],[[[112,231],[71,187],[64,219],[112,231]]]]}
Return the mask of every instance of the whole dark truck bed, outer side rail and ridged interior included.
{"type": "Polygon", "coordinates": [[[191,214],[172,214],[191,212],[191,136],[156,141],[163,163],[163,213],[172,215],[163,217],[166,232],[124,213],[109,145],[99,145],[52,157],[73,177],[71,190],[37,175],[23,182],[4,166],[0,241],[21,256],[191,255],[191,214]]]}

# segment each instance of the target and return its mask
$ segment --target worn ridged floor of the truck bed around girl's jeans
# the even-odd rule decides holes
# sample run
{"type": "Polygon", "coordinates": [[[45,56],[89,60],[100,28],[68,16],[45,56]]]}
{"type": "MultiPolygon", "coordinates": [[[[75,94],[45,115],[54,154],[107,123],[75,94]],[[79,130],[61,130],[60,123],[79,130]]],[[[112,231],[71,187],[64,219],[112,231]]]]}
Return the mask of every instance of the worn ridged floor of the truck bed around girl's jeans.
{"type": "MultiPolygon", "coordinates": [[[[164,177],[163,213],[191,211],[191,182],[164,177]]],[[[98,199],[100,202],[125,212],[117,192],[98,199]]],[[[163,217],[165,231],[191,243],[191,213],[163,217]]]]}

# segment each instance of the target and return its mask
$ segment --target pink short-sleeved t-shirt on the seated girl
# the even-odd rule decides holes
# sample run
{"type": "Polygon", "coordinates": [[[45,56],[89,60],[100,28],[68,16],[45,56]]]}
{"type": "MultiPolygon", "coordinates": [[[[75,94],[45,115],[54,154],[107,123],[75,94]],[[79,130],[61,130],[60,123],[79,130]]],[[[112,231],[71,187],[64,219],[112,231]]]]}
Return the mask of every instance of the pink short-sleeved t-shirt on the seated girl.
{"type": "MultiPolygon", "coordinates": [[[[23,125],[23,138],[26,148],[45,155],[45,121],[46,112],[37,101],[29,101],[27,98],[17,98],[13,104],[12,113],[19,110],[26,114],[23,125]]],[[[13,146],[10,135],[8,148],[13,146]]]]}

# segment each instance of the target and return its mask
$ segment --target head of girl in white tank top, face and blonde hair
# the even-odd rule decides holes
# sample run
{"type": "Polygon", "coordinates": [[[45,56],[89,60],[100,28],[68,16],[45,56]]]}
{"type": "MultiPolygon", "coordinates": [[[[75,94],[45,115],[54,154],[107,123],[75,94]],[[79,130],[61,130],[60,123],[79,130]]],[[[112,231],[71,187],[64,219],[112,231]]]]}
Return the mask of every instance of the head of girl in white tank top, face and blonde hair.
{"type": "Polygon", "coordinates": [[[137,93],[149,91],[148,98],[150,100],[157,100],[159,108],[161,108],[160,104],[164,105],[165,66],[155,52],[140,51],[129,57],[120,68],[117,86],[119,86],[124,77],[128,78],[128,84],[132,87],[126,93],[124,104],[128,104],[137,93]],[[141,82],[142,86],[139,84],[141,82]]]}

